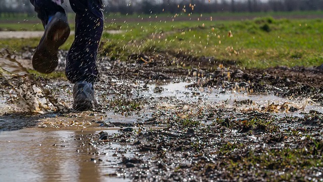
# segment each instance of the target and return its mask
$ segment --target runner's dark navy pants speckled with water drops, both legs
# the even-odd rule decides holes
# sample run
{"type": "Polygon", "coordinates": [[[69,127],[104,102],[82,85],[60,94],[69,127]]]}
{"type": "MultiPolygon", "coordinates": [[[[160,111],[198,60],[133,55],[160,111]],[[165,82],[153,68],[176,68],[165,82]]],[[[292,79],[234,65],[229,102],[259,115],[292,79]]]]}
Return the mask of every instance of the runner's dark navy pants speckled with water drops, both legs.
{"type": "MultiPolygon", "coordinates": [[[[48,17],[64,12],[62,0],[30,0],[45,26],[48,17]]],[[[66,58],[66,76],[73,83],[99,79],[96,56],[103,31],[102,0],[70,0],[76,13],[75,39],[66,58]]]]}

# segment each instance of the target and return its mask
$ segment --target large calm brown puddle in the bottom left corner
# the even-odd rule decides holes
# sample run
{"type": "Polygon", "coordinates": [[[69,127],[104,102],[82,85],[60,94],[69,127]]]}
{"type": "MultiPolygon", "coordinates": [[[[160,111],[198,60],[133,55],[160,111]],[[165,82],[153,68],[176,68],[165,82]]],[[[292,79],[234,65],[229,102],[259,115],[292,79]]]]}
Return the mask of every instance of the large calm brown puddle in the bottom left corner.
{"type": "MultiPolygon", "coordinates": [[[[105,129],[109,134],[117,129],[105,129]]],[[[116,173],[131,146],[96,146],[95,129],[22,129],[0,131],[1,181],[130,181],[116,173]],[[101,151],[101,152],[97,152],[101,151]]]]}

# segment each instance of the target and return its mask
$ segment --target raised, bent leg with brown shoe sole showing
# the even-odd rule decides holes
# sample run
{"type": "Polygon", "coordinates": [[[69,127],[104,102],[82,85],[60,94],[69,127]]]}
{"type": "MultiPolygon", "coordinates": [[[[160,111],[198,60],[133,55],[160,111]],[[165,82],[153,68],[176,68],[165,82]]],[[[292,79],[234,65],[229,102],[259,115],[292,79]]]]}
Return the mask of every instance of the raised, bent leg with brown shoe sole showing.
{"type": "Polygon", "coordinates": [[[61,0],[30,0],[45,31],[32,59],[35,70],[50,73],[58,65],[58,49],[70,34],[70,27],[61,0]]]}

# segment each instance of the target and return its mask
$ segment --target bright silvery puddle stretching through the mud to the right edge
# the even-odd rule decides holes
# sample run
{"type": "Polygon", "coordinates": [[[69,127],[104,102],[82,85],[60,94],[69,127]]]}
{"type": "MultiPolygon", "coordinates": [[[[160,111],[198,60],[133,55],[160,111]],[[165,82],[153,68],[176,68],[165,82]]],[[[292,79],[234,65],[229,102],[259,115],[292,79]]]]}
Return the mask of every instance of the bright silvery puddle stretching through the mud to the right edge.
{"type": "Polygon", "coordinates": [[[236,92],[222,88],[190,87],[191,82],[170,82],[167,84],[148,84],[144,97],[175,98],[181,101],[206,101],[213,106],[236,108],[240,111],[270,111],[281,116],[303,117],[311,110],[323,113],[323,107],[310,99],[288,99],[274,94],[236,92]],[[289,108],[288,110],[286,108],[289,108]],[[292,109],[290,109],[292,108],[292,109]]]}

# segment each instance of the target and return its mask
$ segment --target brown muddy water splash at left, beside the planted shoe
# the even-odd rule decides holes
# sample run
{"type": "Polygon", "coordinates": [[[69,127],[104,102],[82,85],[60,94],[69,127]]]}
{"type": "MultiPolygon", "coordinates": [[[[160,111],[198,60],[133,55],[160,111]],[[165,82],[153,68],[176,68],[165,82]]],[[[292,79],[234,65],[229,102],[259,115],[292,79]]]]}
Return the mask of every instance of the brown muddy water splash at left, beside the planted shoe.
{"type": "Polygon", "coordinates": [[[0,76],[13,87],[18,98],[12,100],[23,110],[33,113],[47,113],[49,110],[67,112],[65,104],[59,103],[51,96],[49,90],[44,89],[35,81],[15,57],[11,54],[0,53],[0,76]]]}

